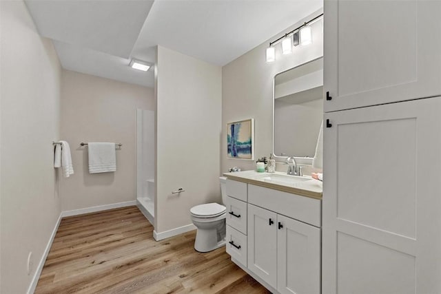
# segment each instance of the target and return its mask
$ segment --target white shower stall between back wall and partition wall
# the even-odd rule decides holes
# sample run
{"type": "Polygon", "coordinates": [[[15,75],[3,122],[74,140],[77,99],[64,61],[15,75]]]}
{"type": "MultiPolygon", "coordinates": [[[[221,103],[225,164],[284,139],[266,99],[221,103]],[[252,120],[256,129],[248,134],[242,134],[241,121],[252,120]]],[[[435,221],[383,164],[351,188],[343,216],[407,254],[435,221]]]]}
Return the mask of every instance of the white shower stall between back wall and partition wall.
{"type": "Polygon", "coordinates": [[[136,109],[136,202],[154,224],[154,111],[136,109]]]}

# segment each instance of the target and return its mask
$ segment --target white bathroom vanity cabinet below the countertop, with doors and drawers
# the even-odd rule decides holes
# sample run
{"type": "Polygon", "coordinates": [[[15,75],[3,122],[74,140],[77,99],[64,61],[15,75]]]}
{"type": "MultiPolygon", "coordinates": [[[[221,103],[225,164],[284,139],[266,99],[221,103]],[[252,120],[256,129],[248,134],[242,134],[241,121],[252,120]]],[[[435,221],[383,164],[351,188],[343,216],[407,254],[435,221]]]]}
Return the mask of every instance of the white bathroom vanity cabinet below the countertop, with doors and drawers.
{"type": "MultiPolygon", "coordinates": [[[[237,220],[227,217],[227,253],[232,260],[270,291],[320,293],[321,200],[233,180],[227,187],[229,183],[234,191],[247,185],[246,231],[236,230],[237,220]],[[241,242],[240,249],[247,244],[245,260],[244,250],[228,244],[231,240],[235,245],[241,242]]],[[[228,197],[227,212],[230,207],[237,210],[238,201],[242,202],[228,197]]]]}

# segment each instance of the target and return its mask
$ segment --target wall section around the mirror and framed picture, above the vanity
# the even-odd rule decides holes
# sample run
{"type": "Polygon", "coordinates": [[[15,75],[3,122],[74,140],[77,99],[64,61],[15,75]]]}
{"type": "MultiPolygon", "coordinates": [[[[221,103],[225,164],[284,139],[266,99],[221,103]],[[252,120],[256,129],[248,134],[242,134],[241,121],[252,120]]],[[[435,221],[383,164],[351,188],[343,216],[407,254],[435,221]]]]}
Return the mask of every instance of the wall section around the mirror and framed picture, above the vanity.
{"type": "Polygon", "coordinates": [[[280,43],[276,45],[276,61],[266,63],[265,50],[269,41],[274,41],[289,30],[297,28],[305,21],[320,14],[314,12],[302,19],[291,28],[287,28],[267,42],[243,54],[238,59],[222,68],[222,150],[221,169],[228,171],[229,167],[255,169],[255,160],[237,160],[227,158],[226,125],[229,122],[254,118],[254,158],[269,156],[272,152],[272,107],[273,107],[273,78],[279,72],[289,70],[312,59],[323,55],[323,36],[321,21],[312,25],[313,43],[307,46],[297,46],[293,54],[283,55],[280,43]]]}

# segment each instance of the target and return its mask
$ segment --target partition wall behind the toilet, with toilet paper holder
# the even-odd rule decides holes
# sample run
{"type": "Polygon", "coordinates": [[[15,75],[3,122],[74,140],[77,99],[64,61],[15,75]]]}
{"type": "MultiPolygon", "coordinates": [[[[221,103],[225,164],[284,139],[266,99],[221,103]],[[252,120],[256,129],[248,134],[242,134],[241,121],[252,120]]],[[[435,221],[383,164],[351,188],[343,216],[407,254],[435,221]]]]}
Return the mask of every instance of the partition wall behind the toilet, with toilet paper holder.
{"type": "Polygon", "coordinates": [[[191,225],[194,205],[221,200],[222,72],[161,46],[157,58],[155,231],[164,233],[191,225]]]}

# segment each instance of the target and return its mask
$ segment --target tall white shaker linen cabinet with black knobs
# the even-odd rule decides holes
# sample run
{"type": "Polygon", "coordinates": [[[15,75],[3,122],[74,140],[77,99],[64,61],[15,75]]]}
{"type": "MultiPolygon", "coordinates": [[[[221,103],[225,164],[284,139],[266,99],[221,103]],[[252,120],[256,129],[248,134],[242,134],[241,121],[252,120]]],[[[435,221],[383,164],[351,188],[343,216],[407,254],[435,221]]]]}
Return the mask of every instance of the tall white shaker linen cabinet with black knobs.
{"type": "Polygon", "coordinates": [[[322,293],[441,293],[441,1],[324,13],[322,293]]]}

